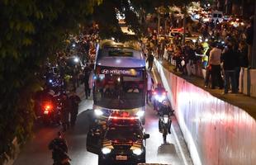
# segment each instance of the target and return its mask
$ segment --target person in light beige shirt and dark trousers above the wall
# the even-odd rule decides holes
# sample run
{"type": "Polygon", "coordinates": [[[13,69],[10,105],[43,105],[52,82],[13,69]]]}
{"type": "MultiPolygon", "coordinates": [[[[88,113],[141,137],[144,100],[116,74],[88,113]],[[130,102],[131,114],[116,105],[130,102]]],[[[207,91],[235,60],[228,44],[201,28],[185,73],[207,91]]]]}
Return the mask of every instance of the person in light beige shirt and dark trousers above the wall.
{"type": "Polygon", "coordinates": [[[214,43],[209,57],[209,64],[211,65],[209,66],[211,68],[211,89],[216,88],[216,82],[218,82],[220,89],[223,88],[223,80],[220,74],[220,55],[221,50],[214,43]]]}

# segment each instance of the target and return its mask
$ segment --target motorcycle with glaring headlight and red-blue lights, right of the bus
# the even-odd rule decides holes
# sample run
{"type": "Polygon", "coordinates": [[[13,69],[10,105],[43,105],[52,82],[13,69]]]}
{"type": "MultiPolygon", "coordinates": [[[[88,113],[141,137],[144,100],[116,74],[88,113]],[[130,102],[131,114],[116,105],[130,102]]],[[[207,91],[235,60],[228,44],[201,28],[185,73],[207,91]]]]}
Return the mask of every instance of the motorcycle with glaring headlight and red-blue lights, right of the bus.
{"type": "Polygon", "coordinates": [[[154,111],[159,113],[159,108],[163,101],[167,100],[167,91],[165,91],[164,87],[159,83],[157,87],[153,91],[153,99],[154,99],[154,111]]]}

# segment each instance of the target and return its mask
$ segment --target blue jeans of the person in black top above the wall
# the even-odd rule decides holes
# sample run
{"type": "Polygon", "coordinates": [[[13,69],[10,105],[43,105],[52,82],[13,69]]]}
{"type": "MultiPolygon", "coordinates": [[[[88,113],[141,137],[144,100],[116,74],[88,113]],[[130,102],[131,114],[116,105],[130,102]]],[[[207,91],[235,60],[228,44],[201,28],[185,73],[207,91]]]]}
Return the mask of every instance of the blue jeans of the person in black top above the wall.
{"type": "Polygon", "coordinates": [[[225,82],[224,82],[224,92],[227,93],[230,87],[231,80],[231,89],[232,92],[237,92],[236,82],[235,82],[235,70],[225,70],[224,71],[225,82]]]}

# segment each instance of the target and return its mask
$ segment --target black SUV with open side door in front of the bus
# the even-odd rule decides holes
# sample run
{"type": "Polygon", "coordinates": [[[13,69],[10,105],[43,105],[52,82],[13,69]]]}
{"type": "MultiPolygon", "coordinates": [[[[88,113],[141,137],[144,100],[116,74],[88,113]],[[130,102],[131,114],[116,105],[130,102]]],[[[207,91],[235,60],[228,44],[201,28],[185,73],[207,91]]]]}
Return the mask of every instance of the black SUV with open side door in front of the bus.
{"type": "Polygon", "coordinates": [[[111,120],[105,128],[94,125],[89,130],[87,149],[98,154],[98,165],[145,163],[148,138],[140,120],[111,120]]]}

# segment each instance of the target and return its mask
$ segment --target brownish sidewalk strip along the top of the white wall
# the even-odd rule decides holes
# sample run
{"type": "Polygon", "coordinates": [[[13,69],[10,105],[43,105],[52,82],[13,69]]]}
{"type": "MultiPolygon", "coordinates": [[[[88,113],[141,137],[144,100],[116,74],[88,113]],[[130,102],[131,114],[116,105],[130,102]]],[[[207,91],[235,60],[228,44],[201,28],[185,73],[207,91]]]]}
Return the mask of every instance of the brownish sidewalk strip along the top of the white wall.
{"type": "Polygon", "coordinates": [[[211,93],[212,96],[217,97],[222,101],[229,102],[234,106],[238,106],[239,108],[246,111],[249,115],[254,117],[254,119],[256,119],[256,98],[255,97],[248,97],[241,93],[239,94],[228,93],[226,95],[223,95],[222,92],[224,92],[224,90],[211,89],[211,88],[204,87],[203,78],[198,78],[196,76],[187,76],[179,72],[174,72],[173,71],[174,66],[173,65],[170,66],[166,60],[162,61],[162,65],[164,66],[164,68],[168,69],[169,72],[177,75],[178,77],[186,79],[187,82],[191,82],[193,85],[197,87],[201,87],[205,91],[211,93]]]}

